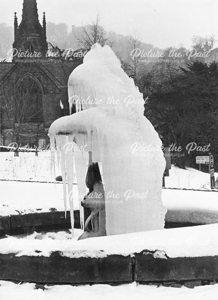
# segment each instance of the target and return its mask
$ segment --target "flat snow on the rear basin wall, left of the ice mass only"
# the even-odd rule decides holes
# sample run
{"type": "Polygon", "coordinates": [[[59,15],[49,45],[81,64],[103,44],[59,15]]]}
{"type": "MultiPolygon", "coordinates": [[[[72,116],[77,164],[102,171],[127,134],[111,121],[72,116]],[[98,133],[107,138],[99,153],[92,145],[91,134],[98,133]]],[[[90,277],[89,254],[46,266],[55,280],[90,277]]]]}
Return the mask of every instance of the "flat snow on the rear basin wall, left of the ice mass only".
{"type": "MultiPolygon", "coordinates": [[[[63,184],[0,181],[0,215],[64,211],[63,184]]],[[[73,185],[74,210],[79,209],[77,185],[73,185]]],[[[69,210],[69,203],[67,202],[69,210]]]]}

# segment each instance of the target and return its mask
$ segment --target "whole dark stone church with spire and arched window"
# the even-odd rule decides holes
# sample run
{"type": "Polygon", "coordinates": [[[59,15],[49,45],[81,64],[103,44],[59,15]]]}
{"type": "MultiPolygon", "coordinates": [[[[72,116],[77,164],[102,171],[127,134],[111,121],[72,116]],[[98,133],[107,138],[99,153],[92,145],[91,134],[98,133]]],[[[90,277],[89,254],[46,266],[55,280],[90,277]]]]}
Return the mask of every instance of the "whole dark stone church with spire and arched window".
{"type": "Polygon", "coordinates": [[[22,146],[44,145],[51,123],[69,115],[68,78],[82,58],[48,57],[45,13],[41,26],[36,0],[23,0],[19,26],[15,13],[13,48],[12,62],[0,63],[1,144],[19,136],[22,146]]]}

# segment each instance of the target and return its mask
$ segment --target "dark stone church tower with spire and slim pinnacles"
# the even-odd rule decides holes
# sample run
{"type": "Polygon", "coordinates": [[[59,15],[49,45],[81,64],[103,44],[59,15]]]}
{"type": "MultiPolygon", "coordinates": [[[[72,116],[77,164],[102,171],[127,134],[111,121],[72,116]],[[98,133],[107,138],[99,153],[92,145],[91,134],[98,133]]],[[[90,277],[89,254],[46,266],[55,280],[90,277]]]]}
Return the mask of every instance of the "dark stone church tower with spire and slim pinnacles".
{"type": "MultiPolygon", "coordinates": [[[[18,52],[28,51],[29,53],[41,53],[45,57],[48,50],[46,41],[46,21],[45,12],[43,13],[43,26],[38,20],[38,9],[36,0],[23,0],[22,21],[18,26],[17,13],[14,13],[14,43],[13,48],[18,52]]],[[[16,54],[16,53],[15,53],[16,54]]],[[[19,59],[14,55],[14,59],[19,59]]]]}

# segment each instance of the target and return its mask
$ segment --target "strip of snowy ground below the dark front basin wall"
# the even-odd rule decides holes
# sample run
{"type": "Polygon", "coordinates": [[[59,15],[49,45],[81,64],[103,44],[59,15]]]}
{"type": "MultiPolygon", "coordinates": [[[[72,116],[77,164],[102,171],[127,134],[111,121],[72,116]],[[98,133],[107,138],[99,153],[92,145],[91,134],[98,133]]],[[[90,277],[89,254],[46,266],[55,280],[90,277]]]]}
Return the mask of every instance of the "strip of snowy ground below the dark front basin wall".
{"type": "Polygon", "coordinates": [[[2,300],[215,300],[217,299],[218,284],[196,286],[194,289],[171,288],[155,285],[133,283],[110,286],[109,284],[94,285],[55,285],[35,289],[35,283],[17,285],[8,281],[0,281],[2,300]]]}

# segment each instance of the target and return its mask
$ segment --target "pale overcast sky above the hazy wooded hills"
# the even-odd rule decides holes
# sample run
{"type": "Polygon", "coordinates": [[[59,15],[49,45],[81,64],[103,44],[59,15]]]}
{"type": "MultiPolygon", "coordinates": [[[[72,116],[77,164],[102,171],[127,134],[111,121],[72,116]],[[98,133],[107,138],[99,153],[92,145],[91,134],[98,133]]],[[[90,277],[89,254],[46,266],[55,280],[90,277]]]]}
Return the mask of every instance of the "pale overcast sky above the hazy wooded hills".
{"type": "MultiPolygon", "coordinates": [[[[20,23],[23,0],[0,0],[0,23],[13,26],[14,11],[20,23]]],[[[81,26],[99,11],[106,30],[128,35],[160,48],[191,46],[193,35],[218,39],[218,0],[37,0],[39,20],[81,26]]],[[[218,43],[217,43],[218,44],[218,43]]],[[[218,46],[216,44],[216,46],[218,46]]]]}

